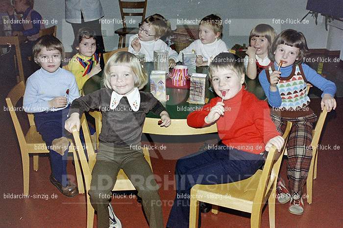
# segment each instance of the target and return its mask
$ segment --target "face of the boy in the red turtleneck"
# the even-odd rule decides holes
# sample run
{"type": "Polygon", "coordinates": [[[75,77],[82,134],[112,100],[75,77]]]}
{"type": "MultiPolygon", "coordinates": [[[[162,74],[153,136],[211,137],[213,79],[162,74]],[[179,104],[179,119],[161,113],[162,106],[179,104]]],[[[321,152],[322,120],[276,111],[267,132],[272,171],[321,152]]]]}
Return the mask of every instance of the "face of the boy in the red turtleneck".
{"type": "Polygon", "coordinates": [[[233,98],[241,90],[243,83],[244,75],[239,76],[228,68],[214,70],[212,74],[213,88],[221,98],[225,91],[224,100],[233,98]]]}

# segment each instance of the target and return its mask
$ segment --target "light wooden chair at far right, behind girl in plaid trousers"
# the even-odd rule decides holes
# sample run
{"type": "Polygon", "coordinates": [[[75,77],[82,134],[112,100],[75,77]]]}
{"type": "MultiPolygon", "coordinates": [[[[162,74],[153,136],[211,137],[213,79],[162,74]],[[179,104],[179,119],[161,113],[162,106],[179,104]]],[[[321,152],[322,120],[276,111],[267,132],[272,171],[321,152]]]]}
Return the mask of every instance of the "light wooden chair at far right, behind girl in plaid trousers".
{"type": "MultiPolygon", "coordinates": [[[[308,87],[309,89],[310,87],[308,87]]],[[[311,149],[312,149],[312,160],[309,169],[309,173],[306,180],[306,189],[307,189],[307,203],[312,204],[312,187],[313,187],[313,180],[317,179],[317,163],[318,163],[318,144],[321,135],[321,130],[323,129],[325,118],[327,115],[326,107],[321,111],[320,116],[318,118],[317,124],[315,129],[312,131],[312,142],[311,142],[311,149]]],[[[287,155],[287,148],[285,148],[284,155],[287,155]]]]}

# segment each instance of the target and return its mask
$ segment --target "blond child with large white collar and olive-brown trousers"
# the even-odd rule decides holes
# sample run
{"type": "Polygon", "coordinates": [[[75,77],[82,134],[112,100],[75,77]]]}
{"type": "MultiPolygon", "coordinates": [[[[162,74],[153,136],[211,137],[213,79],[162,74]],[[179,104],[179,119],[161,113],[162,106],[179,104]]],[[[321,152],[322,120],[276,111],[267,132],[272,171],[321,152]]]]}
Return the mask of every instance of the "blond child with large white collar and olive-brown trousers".
{"type": "Polygon", "coordinates": [[[147,73],[133,54],[114,54],[106,63],[104,74],[105,88],[76,99],[65,124],[71,132],[74,125],[79,129],[79,117],[83,112],[96,108],[102,112],[97,162],[89,191],[91,203],[98,211],[98,228],[108,227],[107,207],[121,168],[143,200],[150,227],[162,228],[158,187],[155,180],[147,185],[147,178],[153,174],[144,158],[140,141],[149,111],[161,116],[161,125],[169,126],[171,120],[163,105],[151,93],[139,91],[147,83],[147,73]],[[143,180],[139,178],[137,182],[137,175],[143,180]],[[105,181],[102,181],[104,177],[105,181]]]}

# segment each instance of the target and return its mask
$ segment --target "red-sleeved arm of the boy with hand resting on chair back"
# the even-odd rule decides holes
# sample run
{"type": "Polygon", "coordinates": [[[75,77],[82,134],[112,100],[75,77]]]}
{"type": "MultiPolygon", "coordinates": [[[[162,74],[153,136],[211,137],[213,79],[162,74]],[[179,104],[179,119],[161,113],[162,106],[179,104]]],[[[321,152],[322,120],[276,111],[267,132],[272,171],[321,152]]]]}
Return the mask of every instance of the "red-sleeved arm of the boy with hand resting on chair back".
{"type": "Polygon", "coordinates": [[[284,139],[277,132],[275,124],[270,119],[270,109],[265,101],[258,101],[252,104],[253,122],[258,131],[263,135],[265,150],[269,151],[272,145],[280,151],[284,144],[284,139]]]}

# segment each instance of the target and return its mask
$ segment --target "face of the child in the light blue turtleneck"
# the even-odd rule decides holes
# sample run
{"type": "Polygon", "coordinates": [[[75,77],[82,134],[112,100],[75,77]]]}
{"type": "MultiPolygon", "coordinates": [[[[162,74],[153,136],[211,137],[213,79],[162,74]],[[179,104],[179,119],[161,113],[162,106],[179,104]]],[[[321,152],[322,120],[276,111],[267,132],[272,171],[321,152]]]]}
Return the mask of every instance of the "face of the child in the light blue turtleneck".
{"type": "Polygon", "coordinates": [[[40,63],[43,69],[53,73],[61,65],[61,52],[57,49],[47,50],[46,47],[43,47],[37,55],[37,62],[40,63]]]}

